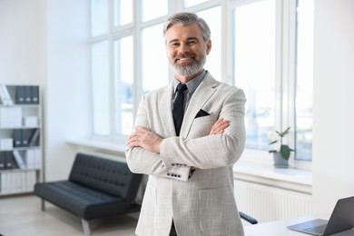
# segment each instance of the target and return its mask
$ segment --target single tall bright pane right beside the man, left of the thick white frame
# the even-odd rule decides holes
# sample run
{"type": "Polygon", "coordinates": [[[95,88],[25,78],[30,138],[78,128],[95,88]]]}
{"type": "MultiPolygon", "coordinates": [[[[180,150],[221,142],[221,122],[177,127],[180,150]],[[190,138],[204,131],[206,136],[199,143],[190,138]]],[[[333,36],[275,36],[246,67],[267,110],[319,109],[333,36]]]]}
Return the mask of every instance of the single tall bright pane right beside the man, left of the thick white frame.
{"type": "Polygon", "coordinates": [[[233,11],[234,78],[246,93],[247,148],[268,149],[275,127],[275,0],[233,11]]]}

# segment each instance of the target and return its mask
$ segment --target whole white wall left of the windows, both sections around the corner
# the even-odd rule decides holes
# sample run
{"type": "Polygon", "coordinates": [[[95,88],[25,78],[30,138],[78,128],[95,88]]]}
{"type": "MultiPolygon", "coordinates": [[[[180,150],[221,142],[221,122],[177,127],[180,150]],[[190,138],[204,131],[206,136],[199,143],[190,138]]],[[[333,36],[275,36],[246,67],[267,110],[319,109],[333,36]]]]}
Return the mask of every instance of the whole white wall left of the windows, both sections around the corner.
{"type": "Polygon", "coordinates": [[[0,83],[40,84],[46,181],[67,178],[65,140],[91,130],[89,1],[0,0],[0,83]]]}

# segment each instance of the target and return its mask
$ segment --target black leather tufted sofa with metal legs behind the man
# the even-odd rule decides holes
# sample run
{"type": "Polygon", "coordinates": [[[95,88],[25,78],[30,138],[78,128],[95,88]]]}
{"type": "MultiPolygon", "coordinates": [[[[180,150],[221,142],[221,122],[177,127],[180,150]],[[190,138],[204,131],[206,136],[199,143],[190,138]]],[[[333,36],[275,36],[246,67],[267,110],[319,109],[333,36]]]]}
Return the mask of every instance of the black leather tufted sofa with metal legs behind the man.
{"type": "Polygon", "coordinates": [[[90,234],[89,220],[140,211],[135,198],[142,177],[126,162],[77,153],[68,180],[38,182],[34,194],[42,199],[43,211],[45,201],[70,211],[90,234]]]}

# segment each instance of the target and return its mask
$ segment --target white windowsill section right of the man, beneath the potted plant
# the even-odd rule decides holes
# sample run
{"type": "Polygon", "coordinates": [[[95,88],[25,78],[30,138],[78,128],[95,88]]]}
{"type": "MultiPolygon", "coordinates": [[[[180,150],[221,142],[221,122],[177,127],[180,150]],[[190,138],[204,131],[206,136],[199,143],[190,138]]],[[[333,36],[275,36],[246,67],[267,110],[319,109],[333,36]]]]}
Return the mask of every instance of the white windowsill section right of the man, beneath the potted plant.
{"type": "Polygon", "coordinates": [[[240,160],[234,167],[235,180],[254,182],[290,191],[312,194],[312,172],[279,169],[269,163],[240,160]]]}

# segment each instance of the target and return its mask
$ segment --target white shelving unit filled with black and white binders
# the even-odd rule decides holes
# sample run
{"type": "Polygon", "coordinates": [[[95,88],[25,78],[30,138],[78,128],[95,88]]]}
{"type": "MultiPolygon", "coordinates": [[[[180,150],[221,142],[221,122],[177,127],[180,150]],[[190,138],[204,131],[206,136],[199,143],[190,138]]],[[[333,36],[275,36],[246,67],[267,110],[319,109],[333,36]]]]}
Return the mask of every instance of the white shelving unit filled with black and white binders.
{"type": "Polygon", "coordinates": [[[43,179],[40,91],[0,84],[0,196],[33,192],[43,179]]]}

